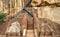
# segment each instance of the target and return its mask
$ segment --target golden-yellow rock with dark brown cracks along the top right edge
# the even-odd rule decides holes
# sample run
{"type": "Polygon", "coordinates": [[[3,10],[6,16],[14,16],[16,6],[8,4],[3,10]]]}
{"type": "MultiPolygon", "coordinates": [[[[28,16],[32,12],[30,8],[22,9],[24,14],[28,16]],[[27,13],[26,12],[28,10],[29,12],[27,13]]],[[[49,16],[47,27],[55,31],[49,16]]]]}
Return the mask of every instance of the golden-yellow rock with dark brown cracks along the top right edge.
{"type": "Polygon", "coordinates": [[[56,3],[58,5],[60,5],[60,0],[32,0],[31,5],[40,7],[41,5],[44,6],[46,4],[47,5],[52,5],[52,4],[56,5],[56,3]]]}

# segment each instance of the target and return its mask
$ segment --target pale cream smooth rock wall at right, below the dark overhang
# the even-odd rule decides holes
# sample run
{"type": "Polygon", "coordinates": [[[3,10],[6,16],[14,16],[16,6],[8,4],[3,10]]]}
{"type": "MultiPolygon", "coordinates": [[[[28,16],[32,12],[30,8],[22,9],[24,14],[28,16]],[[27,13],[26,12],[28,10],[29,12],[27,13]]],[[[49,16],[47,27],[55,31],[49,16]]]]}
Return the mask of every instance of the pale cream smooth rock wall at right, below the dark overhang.
{"type": "Polygon", "coordinates": [[[60,24],[60,7],[41,7],[38,8],[38,18],[48,18],[60,24]]]}

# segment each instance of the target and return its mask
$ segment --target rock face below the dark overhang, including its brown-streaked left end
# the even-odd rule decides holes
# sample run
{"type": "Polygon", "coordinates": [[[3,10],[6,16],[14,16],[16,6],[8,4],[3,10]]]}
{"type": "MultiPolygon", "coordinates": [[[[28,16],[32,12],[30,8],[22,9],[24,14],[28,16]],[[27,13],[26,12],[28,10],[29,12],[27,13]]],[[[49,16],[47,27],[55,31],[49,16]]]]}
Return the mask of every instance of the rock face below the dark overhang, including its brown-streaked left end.
{"type": "MultiPolygon", "coordinates": [[[[27,8],[29,12],[35,13],[38,18],[47,18],[60,24],[60,7],[31,7],[27,8]],[[34,9],[35,8],[35,9],[34,9]]],[[[31,14],[32,14],[31,13],[31,14]]]]}

